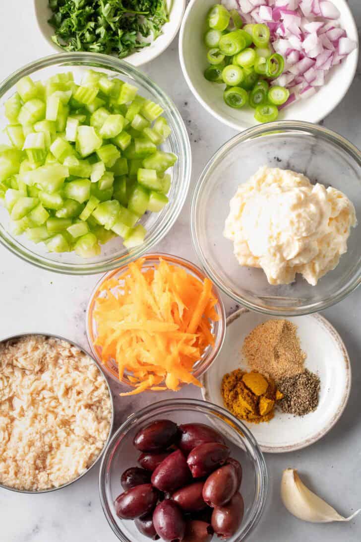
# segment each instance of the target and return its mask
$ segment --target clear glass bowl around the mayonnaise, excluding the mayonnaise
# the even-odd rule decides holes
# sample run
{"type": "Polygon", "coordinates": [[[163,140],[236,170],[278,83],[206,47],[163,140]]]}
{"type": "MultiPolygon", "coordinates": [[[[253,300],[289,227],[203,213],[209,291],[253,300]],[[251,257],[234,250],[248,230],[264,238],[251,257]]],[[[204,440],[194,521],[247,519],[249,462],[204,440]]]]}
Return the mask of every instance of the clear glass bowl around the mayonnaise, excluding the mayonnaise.
{"type": "Polygon", "coordinates": [[[194,248],[215,284],[239,304],[267,314],[309,314],[345,298],[361,281],[360,225],[351,229],[338,266],[311,286],[300,275],[290,285],[268,284],[262,269],[241,267],[223,236],[229,201],[259,166],[304,173],[311,182],[344,192],[361,220],[361,153],[342,136],[301,121],[256,126],[227,141],[209,160],[191,206],[194,248]]]}

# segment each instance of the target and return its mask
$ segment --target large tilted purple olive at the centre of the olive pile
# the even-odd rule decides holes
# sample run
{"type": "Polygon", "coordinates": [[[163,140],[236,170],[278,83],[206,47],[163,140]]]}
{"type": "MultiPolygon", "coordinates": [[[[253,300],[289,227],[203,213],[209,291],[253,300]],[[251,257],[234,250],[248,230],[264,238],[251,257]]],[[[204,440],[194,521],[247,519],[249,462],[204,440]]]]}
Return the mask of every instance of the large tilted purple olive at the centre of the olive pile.
{"type": "Polygon", "coordinates": [[[151,481],[153,486],[160,491],[173,493],[176,489],[185,486],[191,478],[185,456],[181,450],[176,450],[157,466],[151,481]]]}

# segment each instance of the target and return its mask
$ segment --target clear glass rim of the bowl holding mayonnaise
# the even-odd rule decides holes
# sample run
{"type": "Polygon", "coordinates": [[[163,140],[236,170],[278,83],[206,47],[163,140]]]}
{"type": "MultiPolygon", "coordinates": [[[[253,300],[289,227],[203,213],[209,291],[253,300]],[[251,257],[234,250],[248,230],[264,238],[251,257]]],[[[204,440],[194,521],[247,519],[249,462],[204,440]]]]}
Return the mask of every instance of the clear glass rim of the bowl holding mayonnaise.
{"type": "Polygon", "coordinates": [[[204,169],[202,170],[198,181],[196,182],[193,196],[192,196],[192,202],[191,202],[191,210],[190,210],[190,221],[191,221],[191,237],[192,237],[192,243],[193,248],[201,262],[201,267],[204,269],[204,272],[209,276],[209,278],[214,282],[218,288],[227,294],[230,298],[232,298],[234,301],[239,303],[241,306],[246,307],[248,309],[251,309],[252,311],[261,312],[264,314],[271,314],[274,316],[300,316],[304,314],[311,314],[314,312],[323,311],[327,307],[331,307],[332,305],[335,305],[339,301],[342,301],[347,295],[349,295],[351,292],[353,292],[360,284],[361,284],[361,266],[359,266],[358,273],[356,277],[353,279],[349,287],[345,288],[342,292],[339,294],[333,296],[332,298],[325,299],[323,301],[319,301],[317,303],[309,303],[307,305],[304,305],[299,308],[275,308],[275,307],[261,307],[260,305],[254,304],[251,301],[247,301],[244,298],[242,298],[240,295],[233,292],[232,289],[228,288],[227,285],[223,281],[221,281],[218,278],[218,275],[213,273],[212,269],[208,265],[207,257],[204,254],[204,250],[202,250],[201,245],[198,241],[198,234],[197,234],[197,212],[198,212],[198,205],[199,200],[202,195],[202,189],[204,185],[207,182],[207,177],[209,171],[212,169],[213,165],[218,162],[220,159],[224,157],[224,155],[235,145],[242,143],[242,141],[246,141],[248,139],[259,137],[260,135],[266,135],[266,134],[273,134],[280,131],[284,131],[285,133],[296,131],[296,132],[306,132],[307,135],[316,135],[316,137],[322,137],[329,141],[331,141],[333,144],[340,147],[343,151],[347,152],[353,160],[361,167],[361,151],[353,145],[348,139],[344,138],[342,135],[338,134],[337,132],[334,132],[332,130],[329,130],[329,128],[325,128],[323,126],[318,126],[316,124],[312,124],[312,122],[306,122],[306,121],[296,121],[296,120],[279,120],[274,122],[267,122],[266,124],[260,124],[257,126],[253,126],[252,128],[248,128],[248,130],[245,130],[237,135],[234,135],[231,139],[226,141],[223,145],[219,147],[219,149],[213,154],[211,159],[208,160],[206,163],[204,169]]]}

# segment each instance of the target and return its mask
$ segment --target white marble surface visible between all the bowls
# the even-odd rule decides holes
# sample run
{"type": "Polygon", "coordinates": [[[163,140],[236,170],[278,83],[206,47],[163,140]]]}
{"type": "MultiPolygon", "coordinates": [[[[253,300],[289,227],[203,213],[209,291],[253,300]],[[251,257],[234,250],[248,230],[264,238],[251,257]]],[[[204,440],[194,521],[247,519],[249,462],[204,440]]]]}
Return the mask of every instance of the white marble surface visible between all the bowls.
{"type": "MultiPolygon", "coordinates": [[[[0,79],[23,64],[52,53],[38,33],[32,12],[32,0],[2,0],[0,43],[2,59],[0,79]]],[[[350,0],[358,25],[361,2],[350,0]]],[[[235,132],[209,116],[195,101],[182,77],[178,60],[178,40],[145,71],[173,98],[186,122],[193,152],[192,186],[212,154],[235,132]]],[[[361,146],[360,132],[361,70],[342,104],[324,120],[332,128],[361,146]]],[[[192,190],[191,190],[192,191],[192,190]]],[[[178,222],[156,249],[174,252],[195,260],[189,233],[187,204],[178,222]]],[[[73,277],[36,269],[17,259],[0,246],[0,334],[2,337],[24,331],[47,331],[87,346],[84,312],[97,276],[73,277]]],[[[359,542],[361,517],[349,524],[306,524],[286,512],[279,496],[280,475],[286,467],[297,467],[312,486],[341,513],[361,506],[361,289],[336,307],[324,312],[342,335],[349,350],[353,382],[349,404],[336,427],[313,446],[293,454],[266,455],[270,491],[266,511],[250,542],[359,542]]],[[[225,299],[227,312],[234,304],[225,299]]],[[[143,395],[137,399],[117,397],[116,427],[140,404],[154,402],[162,395],[143,395]]],[[[199,397],[186,388],[179,396],[199,397]]],[[[2,542],[115,542],[103,516],[98,488],[98,469],[60,492],[45,495],[19,495],[0,489],[0,540],[2,542]]]]}

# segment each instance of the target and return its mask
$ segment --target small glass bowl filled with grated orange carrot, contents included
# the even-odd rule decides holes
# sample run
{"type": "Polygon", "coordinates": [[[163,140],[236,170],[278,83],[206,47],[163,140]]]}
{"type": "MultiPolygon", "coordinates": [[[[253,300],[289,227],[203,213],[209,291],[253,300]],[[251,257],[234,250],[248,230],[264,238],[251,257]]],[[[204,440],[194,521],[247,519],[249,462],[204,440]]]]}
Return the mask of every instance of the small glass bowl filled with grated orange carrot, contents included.
{"type": "Polygon", "coordinates": [[[95,359],[133,388],[121,395],[201,386],[226,331],[218,289],[193,263],[161,253],[104,275],[86,321],[95,359]]]}

